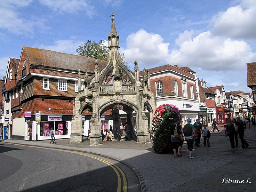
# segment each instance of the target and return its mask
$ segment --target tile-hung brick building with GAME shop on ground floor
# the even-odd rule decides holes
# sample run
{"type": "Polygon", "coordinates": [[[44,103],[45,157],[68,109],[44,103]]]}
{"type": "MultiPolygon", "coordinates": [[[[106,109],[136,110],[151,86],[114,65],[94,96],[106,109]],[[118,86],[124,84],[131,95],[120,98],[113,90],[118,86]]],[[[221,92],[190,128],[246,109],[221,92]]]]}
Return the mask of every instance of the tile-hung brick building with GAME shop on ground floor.
{"type": "MultiPolygon", "coordinates": [[[[10,114],[9,138],[47,140],[50,127],[57,139],[70,138],[78,70],[84,77],[87,68],[91,77],[94,62],[93,58],[25,46],[19,60],[10,58],[4,92],[4,110],[10,114]]],[[[98,64],[102,68],[106,61],[98,60],[98,64]]],[[[84,110],[84,120],[90,114],[84,110]]]]}

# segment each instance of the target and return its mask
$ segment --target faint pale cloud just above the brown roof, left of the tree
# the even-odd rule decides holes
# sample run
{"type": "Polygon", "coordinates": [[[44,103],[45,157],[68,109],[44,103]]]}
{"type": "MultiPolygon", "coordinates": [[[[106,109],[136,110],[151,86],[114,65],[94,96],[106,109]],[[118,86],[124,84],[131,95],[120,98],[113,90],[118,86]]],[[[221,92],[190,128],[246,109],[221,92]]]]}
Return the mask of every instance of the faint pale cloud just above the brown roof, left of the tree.
{"type": "Polygon", "coordinates": [[[79,47],[80,44],[84,44],[84,42],[75,40],[58,40],[55,41],[53,45],[40,44],[36,47],[57,52],[77,54],[76,49],[79,47]]]}

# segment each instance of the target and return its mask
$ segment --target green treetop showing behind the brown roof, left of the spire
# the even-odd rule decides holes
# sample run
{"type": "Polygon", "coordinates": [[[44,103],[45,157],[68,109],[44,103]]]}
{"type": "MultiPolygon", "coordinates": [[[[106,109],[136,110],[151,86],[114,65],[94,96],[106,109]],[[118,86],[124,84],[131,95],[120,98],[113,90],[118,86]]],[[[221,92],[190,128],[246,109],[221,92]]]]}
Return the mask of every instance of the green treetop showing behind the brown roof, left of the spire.
{"type": "Polygon", "coordinates": [[[91,57],[99,60],[107,60],[109,49],[103,44],[103,40],[100,40],[99,43],[87,40],[85,44],[79,45],[79,48],[76,49],[76,52],[81,56],[91,57]]]}

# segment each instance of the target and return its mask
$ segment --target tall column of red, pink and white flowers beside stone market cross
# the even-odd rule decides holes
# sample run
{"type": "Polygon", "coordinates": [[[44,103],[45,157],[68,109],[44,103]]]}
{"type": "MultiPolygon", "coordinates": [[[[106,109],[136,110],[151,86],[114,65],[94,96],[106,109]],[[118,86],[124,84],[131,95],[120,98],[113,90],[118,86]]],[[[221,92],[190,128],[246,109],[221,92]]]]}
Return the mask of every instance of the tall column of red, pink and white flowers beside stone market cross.
{"type": "Polygon", "coordinates": [[[153,149],[156,153],[172,153],[171,130],[172,119],[180,118],[180,110],[175,105],[164,104],[156,108],[152,120],[153,149]]]}

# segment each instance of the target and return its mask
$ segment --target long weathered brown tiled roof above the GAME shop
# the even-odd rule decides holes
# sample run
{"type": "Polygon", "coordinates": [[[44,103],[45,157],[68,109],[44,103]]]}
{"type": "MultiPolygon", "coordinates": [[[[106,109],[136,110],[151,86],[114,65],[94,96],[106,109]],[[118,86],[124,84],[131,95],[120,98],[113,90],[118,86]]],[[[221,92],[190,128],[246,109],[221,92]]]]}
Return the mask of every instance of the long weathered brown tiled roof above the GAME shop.
{"type": "MultiPolygon", "coordinates": [[[[71,71],[78,71],[81,69],[82,72],[87,68],[89,73],[94,73],[94,62],[97,59],[26,46],[23,48],[31,65],[67,69],[71,71]]],[[[103,60],[97,61],[99,69],[107,63],[107,61],[103,60]]]]}

